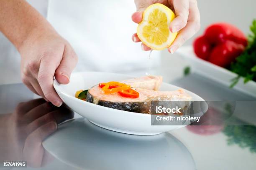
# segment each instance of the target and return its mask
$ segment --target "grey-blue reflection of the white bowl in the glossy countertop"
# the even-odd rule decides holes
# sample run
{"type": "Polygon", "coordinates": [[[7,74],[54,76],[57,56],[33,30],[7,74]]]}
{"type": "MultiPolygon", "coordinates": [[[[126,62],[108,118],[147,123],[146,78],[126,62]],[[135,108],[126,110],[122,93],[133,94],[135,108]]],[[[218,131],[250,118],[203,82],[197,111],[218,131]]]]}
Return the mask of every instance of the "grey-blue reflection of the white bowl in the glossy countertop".
{"type": "Polygon", "coordinates": [[[128,135],[100,128],[84,118],[60,125],[43,145],[64,163],[82,169],[196,169],[187,148],[169,133],[128,135]]]}

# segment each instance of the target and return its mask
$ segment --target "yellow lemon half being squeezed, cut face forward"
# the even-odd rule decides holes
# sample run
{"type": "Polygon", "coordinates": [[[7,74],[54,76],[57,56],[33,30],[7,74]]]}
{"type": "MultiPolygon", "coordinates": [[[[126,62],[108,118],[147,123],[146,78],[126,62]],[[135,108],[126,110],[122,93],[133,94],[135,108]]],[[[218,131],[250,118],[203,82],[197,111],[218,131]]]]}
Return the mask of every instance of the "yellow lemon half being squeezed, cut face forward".
{"type": "Polygon", "coordinates": [[[138,24],[137,34],[140,40],[153,50],[163,50],[169,47],[177,36],[172,33],[169,25],[175,14],[163,4],[153,4],[143,13],[142,21],[138,24]]]}

